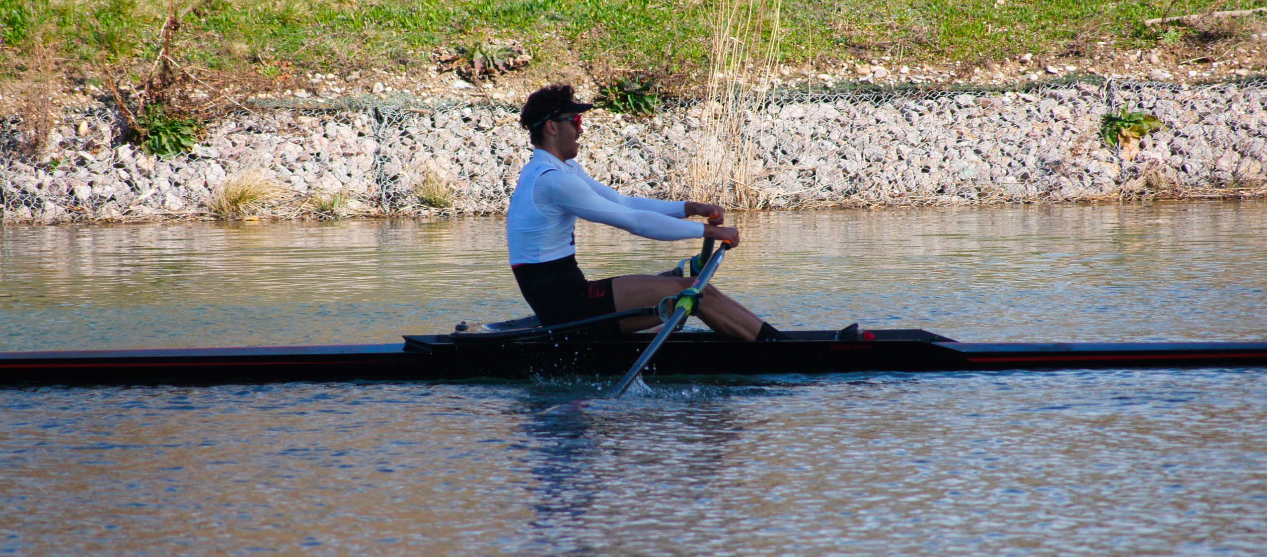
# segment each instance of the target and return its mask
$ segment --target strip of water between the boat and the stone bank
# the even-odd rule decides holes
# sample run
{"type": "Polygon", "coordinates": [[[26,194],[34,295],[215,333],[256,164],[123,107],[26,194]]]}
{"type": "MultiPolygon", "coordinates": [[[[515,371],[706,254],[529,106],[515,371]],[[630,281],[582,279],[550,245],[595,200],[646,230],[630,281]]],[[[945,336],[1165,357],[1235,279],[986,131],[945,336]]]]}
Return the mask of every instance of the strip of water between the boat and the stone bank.
{"type": "MultiPolygon", "coordinates": [[[[717,285],[783,327],[959,340],[1267,335],[1267,203],[735,214],[717,285]]],[[[0,228],[0,349],[386,343],[528,312],[503,221],[0,228]]],[[[696,242],[578,228],[593,277],[696,242]]]]}

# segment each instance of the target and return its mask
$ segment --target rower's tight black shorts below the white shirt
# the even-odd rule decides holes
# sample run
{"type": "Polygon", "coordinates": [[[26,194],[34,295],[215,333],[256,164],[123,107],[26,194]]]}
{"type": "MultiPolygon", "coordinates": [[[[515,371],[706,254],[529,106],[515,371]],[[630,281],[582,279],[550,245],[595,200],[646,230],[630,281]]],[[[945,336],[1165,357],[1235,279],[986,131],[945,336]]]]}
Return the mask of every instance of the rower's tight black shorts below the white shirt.
{"type": "MultiPolygon", "coordinates": [[[[514,280],[541,325],[557,325],[616,312],[612,279],[585,280],[576,256],[514,265],[514,280]]],[[[620,334],[616,321],[595,332],[620,334]]]]}

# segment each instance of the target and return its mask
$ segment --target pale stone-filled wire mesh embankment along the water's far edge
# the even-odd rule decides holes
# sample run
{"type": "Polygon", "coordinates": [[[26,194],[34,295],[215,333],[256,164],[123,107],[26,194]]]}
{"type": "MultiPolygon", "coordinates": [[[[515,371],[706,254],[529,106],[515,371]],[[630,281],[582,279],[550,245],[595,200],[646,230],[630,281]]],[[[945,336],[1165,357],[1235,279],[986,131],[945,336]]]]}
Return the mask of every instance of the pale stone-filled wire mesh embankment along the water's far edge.
{"type": "MultiPolygon", "coordinates": [[[[696,197],[701,103],[587,114],[579,161],[635,195],[696,197]]],[[[39,162],[0,162],[5,221],[331,218],[504,211],[531,154],[517,107],[490,99],[312,99],[210,126],[190,155],[117,142],[118,115],[75,114],[39,162]]],[[[13,128],[8,132],[11,134],[13,128]]],[[[775,95],[748,114],[753,209],[1267,195],[1267,80],[1186,86],[1068,81],[998,90],[874,88],[775,95]],[[1105,146],[1123,107],[1166,127],[1105,146]],[[1125,156],[1124,156],[1125,155],[1125,156]]]]}

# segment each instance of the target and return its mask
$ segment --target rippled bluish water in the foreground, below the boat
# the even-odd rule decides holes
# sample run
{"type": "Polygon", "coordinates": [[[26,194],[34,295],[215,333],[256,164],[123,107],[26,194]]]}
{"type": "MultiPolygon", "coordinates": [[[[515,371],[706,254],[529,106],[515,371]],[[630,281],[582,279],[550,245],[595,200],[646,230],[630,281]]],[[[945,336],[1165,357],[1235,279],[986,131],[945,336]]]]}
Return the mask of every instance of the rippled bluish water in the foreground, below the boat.
{"type": "Polygon", "coordinates": [[[0,390],[0,552],[1252,556],[1264,377],[0,390]]]}

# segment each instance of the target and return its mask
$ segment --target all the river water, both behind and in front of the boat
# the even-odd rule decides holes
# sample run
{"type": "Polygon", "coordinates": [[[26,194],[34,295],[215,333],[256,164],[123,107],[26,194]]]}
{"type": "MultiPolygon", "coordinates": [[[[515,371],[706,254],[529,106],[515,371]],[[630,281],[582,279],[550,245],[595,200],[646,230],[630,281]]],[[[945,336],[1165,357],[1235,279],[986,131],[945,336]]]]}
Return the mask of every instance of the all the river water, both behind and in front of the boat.
{"type": "MultiPolygon", "coordinates": [[[[734,221],[715,283],[786,329],[1267,339],[1267,203],[734,221]]],[[[3,227],[0,350],[514,317],[502,227],[3,227]]],[[[576,240],[592,277],[697,247],[576,240]]],[[[0,553],[1261,556],[1264,370],[0,390],[0,553]]]]}

